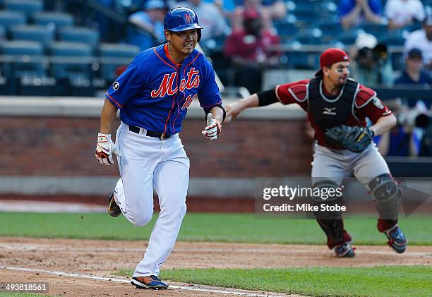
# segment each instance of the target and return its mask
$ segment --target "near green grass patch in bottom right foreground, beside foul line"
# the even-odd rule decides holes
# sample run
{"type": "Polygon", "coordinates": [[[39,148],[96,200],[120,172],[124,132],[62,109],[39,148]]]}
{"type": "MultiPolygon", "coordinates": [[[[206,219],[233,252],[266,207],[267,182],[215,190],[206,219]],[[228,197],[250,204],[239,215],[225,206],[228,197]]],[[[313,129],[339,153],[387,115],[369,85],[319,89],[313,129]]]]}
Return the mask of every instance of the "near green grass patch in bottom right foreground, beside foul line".
{"type": "MultiPolygon", "coordinates": [[[[121,275],[131,275],[123,270],[121,275]]],[[[291,269],[171,269],[161,278],[307,296],[431,296],[432,267],[307,267],[291,269]]]]}

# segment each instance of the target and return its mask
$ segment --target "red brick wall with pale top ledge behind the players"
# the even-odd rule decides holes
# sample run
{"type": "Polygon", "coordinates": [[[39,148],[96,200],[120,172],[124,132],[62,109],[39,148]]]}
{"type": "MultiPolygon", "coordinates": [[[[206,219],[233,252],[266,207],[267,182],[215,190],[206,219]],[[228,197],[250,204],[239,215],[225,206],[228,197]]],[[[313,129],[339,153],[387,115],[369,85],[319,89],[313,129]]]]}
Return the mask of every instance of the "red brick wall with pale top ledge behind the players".
{"type": "MultiPolygon", "coordinates": [[[[117,166],[94,157],[103,98],[0,97],[0,195],[105,196],[117,166]]],[[[245,111],[205,139],[197,102],[180,137],[191,159],[188,197],[253,198],[256,177],[309,176],[312,141],[299,107],[245,111]]]]}

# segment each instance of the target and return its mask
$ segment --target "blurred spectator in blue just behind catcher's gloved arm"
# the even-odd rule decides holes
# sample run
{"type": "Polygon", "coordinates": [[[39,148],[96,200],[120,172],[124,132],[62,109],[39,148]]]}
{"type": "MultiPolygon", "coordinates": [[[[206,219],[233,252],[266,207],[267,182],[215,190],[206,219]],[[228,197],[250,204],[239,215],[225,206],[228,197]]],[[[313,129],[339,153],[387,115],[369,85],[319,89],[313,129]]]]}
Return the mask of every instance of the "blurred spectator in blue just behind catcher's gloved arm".
{"type": "Polygon", "coordinates": [[[390,131],[373,138],[373,141],[378,145],[378,150],[383,157],[416,157],[419,154],[419,138],[417,138],[416,133],[413,133],[414,126],[409,125],[401,116],[407,113],[408,108],[404,107],[400,100],[385,103],[395,114],[397,124],[390,131]]]}

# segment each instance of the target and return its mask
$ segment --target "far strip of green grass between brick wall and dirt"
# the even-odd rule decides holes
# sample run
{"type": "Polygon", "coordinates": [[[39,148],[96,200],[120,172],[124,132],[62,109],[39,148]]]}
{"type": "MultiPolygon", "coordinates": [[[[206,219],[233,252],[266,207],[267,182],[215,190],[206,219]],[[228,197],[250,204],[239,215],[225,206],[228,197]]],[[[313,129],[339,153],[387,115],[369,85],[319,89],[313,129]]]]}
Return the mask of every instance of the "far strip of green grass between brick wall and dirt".
{"type": "MultiPolygon", "coordinates": [[[[0,236],[147,240],[155,219],[133,226],[123,216],[107,214],[0,213],[0,236]]],[[[431,217],[400,222],[409,243],[432,245],[431,217]]],[[[356,244],[382,245],[374,219],[347,219],[356,244]]],[[[256,219],[254,214],[186,214],[179,241],[325,244],[323,231],[311,219],[256,219]]]]}

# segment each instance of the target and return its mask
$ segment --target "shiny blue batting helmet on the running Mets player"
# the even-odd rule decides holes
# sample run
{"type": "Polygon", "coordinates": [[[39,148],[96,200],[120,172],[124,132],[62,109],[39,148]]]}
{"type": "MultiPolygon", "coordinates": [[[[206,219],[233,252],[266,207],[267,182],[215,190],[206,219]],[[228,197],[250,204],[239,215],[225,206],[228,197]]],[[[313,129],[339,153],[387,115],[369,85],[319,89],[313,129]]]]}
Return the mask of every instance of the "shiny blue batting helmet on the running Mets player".
{"type": "Polygon", "coordinates": [[[195,11],[187,7],[177,7],[168,11],[164,17],[164,30],[181,32],[186,30],[198,30],[198,42],[201,39],[201,29],[198,16],[195,11]]]}

